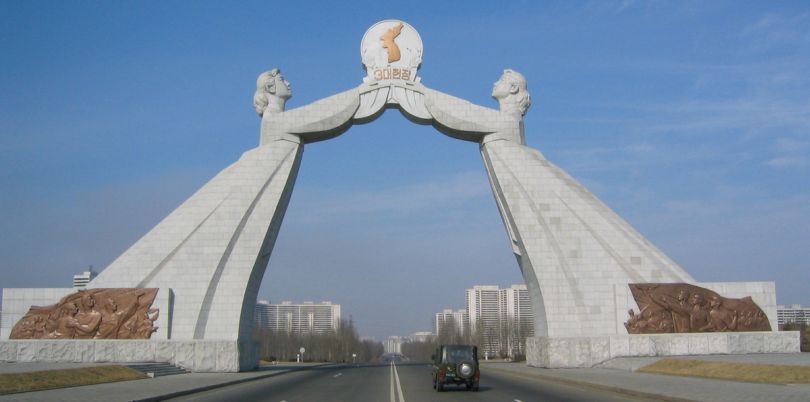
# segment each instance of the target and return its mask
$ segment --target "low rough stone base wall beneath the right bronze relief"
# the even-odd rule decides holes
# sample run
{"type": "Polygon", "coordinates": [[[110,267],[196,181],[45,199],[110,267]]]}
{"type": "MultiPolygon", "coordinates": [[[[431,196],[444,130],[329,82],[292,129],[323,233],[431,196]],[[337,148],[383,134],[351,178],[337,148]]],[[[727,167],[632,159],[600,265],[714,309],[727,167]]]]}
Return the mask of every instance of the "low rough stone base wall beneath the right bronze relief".
{"type": "Polygon", "coordinates": [[[799,353],[799,332],[715,332],[526,339],[533,367],[592,367],[616,357],[799,353]]]}

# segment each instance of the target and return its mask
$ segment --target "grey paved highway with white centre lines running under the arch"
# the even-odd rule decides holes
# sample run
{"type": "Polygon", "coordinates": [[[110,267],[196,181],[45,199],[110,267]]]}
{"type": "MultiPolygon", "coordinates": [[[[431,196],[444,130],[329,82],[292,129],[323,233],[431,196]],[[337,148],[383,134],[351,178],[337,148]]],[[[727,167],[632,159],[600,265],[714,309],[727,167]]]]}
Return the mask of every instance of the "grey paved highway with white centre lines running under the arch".
{"type": "Polygon", "coordinates": [[[174,401],[419,402],[639,401],[589,388],[527,379],[482,367],[481,389],[436,392],[426,364],[335,365],[201,392],[174,401]]]}

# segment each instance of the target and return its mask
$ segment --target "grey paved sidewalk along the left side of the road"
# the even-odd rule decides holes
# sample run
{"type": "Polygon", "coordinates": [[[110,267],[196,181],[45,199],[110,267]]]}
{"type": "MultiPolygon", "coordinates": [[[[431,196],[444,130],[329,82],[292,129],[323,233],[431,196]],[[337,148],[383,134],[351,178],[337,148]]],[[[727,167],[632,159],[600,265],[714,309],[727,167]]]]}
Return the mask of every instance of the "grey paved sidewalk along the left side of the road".
{"type": "MultiPolygon", "coordinates": [[[[87,364],[63,363],[0,363],[0,373],[55,370],[86,367],[87,364]]],[[[95,364],[98,366],[99,364],[95,364]]],[[[0,395],[0,401],[155,401],[168,395],[179,396],[260,378],[322,366],[323,364],[279,364],[263,366],[257,371],[246,373],[191,373],[169,375],[135,381],[121,381],[73,388],[60,388],[47,391],[23,392],[0,395]]]]}

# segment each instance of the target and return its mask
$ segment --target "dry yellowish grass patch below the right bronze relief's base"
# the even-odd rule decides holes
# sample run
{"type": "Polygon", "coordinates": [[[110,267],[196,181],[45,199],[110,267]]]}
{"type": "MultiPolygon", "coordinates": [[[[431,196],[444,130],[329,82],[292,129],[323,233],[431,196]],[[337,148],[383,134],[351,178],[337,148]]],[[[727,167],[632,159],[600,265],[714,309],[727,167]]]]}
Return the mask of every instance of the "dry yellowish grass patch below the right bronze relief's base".
{"type": "Polygon", "coordinates": [[[769,384],[810,384],[810,367],[808,366],[662,359],[638,371],[642,373],[763,382],[769,384]]]}

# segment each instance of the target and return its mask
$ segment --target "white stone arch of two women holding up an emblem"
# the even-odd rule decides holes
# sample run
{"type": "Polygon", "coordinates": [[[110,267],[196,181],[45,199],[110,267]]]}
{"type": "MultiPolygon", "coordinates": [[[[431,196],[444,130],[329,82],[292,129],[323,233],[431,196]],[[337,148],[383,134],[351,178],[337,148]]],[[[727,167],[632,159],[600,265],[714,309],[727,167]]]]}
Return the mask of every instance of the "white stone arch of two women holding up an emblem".
{"type": "Polygon", "coordinates": [[[531,98],[520,73],[506,70],[496,83],[492,96],[498,109],[427,88],[417,76],[419,34],[397,20],[369,28],[361,56],[367,72],[362,84],[289,111],[291,91],[281,72],[260,75],[254,96],[262,117],[260,145],[200,188],[89,287],[171,289],[169,339],[227,342],[216,347],[230,348],[237,357],[217,362],[216,371],[255,366],[254,305],[305,145],[392,107],[417,123],[480,144],[532,301],[530,364],[587,364],[594,360],[587,357],[591,352],[570,354],[571,339],[589,339],[577,345],[591,350],[592,339],[626,335],[623,321],[635,304],[620,288],[629,283],[694,283],[581,184],[525,145],[523,115],[531,98]],[[555,349],[555,340],[568,343],[555,349]],[[555,357],[555,350],[569,355],[555,357]],[[568,363],[557,363],[563,360],[568,363]]]}

